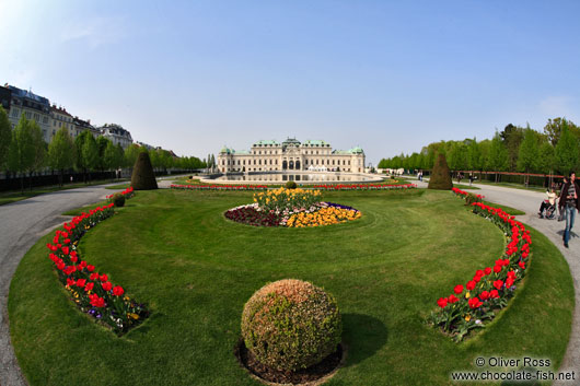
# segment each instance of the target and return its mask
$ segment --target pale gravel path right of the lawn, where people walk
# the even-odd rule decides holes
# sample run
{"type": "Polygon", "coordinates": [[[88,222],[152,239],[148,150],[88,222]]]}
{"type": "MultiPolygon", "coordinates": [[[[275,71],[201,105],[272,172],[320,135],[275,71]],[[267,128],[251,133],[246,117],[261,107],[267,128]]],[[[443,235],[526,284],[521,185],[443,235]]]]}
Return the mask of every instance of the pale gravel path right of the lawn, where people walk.
{"type": "MultiPolygon", "coordinates": [[[[427,187],[427,184],[416,182],[419,187],[427,187]]],[[[468,182],[467,182],[468,184],[468,182]]],[[[525,212],[523,215],[518,215],[517,219],[525,224],[531,225],[537,231],[542,232],[546,237],[549,238],[554,245],[561,252],[573,279],[575,294],[576,294],[576,307],[573,311],[572,320],[572,332],[570,335],[570,341],[568,342],[568,349],[564,358],[564,362],[560,366],[561,371],[575,371],[578,377],[580,376],[580,221],[578,221],[579,214],[577,213],[576,221],[576,233],[572,229],[572,237],[570,238],[570,248],[565,248],[561,241],[561,235],[566,222],[558,222],[557,220],[544,220],[540,219],[537,212],[542,200],[546,199],[547,196],[544,192],[506,188],[492,185],[473,184],[479,190],[473,190],[476,195],[484,195],[486,201],[497,202],[511,208],[520,209],[525,212]]],[[[465,189],[468,190],[468,189],[465,189]]],[[[556,321],[555,321],[556,323],[556,321]]],[[[558,383],[554,385],[570,385],[570,383],[558,383]]]]}

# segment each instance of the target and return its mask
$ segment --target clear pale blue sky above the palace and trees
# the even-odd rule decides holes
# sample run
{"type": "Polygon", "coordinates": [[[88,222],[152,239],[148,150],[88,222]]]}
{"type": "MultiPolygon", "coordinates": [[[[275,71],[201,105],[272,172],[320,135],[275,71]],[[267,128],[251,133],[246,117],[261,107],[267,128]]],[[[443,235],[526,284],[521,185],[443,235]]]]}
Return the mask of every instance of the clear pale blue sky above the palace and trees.
{"type": "Polygon", "coordinates": [[[580,1],[0,0],[0,83],[205,157],[580,124],[580,1]]]}

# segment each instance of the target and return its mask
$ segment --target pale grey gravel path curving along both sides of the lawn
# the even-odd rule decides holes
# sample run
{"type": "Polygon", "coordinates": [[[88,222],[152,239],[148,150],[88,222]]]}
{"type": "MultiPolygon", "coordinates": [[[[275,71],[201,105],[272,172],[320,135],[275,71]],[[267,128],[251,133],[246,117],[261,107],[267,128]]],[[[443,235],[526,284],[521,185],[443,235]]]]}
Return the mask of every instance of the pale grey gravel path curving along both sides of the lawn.
{"type": "MultiPolygon", "coordinates": [[[[169,188],[173,178],[175,177],[160,182],[160,187],[169,188]]],[[[425,183],[415,183],[419,187],[427,186],[425,183]]],[[[526,213],[518,217],[518,220],[544,233],[560,249],[570,267],[576,299],[580,299],[580,238],[572,233],[570,248],[566,249],[561,242],[565,223],[537,218],[536,213],[540,203],[546,197],[545,194],[489,185],[474,184],[474,186],[480,188],[474,192],[484,195],[486,200],[517,208],[526,213]]],[[[0,385],[26,385],[10,344],[7,312],[10,280],[20,260],[39,237],[69,220],[61,215],[62,212],[96,202],[113,191],[105,189],[104,186],[94,186],[46,194],[0,206],[0,385]]],[[[580,220],[578,222],[580,224],[580,220]]],[[[577,225],[577,229],[578,226],[580,225],[577,225]]],[[[561,370],[576,371],[576,374],[580,372],[580,306],[578,303],[573,312],[572,334],[561,370]]],[[[569,383],[556,382],[554,385],[569,385],[569,383]]]]}

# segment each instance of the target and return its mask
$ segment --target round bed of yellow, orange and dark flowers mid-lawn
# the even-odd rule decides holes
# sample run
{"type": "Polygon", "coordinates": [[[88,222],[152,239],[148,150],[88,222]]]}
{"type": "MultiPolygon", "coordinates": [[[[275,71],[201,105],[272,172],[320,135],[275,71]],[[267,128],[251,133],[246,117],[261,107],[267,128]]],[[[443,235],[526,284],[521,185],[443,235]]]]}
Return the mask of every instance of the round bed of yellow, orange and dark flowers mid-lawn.
{"type": "Polygon", "coordinates": [[[320,190],[275,189],[254,195],[254,203],[232,208],[225,218],[254,226],[306,227],[357,220],[361,212],[339,203],[320,201],[320,190]]]}

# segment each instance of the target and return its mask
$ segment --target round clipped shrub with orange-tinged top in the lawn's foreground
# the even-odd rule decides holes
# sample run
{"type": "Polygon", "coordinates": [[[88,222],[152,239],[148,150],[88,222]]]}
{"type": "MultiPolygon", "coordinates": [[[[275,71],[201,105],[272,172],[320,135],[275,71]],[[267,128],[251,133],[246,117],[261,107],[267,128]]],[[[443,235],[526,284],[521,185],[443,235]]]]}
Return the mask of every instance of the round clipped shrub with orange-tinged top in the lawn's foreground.
{"type": "Polygon", "coordinates": [[[285,279],[259,289],[242,314],[242,337],[262,364],[294,372],[337,350],[343,332],[333,295],[309,282],[285,279]]]}

